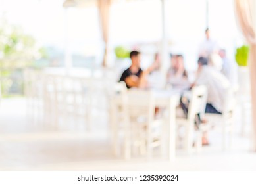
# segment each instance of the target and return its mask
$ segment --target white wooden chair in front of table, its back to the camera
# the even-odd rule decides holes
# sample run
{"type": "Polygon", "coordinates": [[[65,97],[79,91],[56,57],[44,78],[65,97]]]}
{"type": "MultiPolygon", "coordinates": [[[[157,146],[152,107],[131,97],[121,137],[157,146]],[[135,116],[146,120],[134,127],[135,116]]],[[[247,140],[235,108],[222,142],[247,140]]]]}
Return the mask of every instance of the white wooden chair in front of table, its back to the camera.
{"type": "MultiPolygon", "coordinates": [[[[128,125],[125,126],[126,145],[129,143],[132,149],[140,149],[141,154],[147,158],[153,156],[153,148],[161,147],[161,135],[163,134],[163,120],[155,119],[155,97],[153,91],[129,90],[126,108],[128,112],[128,125]],[[127,129],[128,128],[128,129],[127,129]],[[130,133],[129,133],[130,131],[130,133]]],[[[161,148],[163,149],[163,148],[161,148]]],[[[128,155],[128,154],[126,154],[128,155]]]]}

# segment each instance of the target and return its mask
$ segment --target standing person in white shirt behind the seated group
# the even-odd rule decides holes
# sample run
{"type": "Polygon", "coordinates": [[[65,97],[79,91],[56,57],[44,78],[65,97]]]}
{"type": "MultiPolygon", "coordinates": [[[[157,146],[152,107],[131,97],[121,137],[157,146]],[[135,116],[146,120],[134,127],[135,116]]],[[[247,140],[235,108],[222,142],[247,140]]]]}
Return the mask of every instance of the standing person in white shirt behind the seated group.
{"type": "Polygon", "coordinates": [[[210,37],[210,30],[205,30],[205,41],[199,45],[199,57],[209,57],[212,53],[218,53],[218,43],[210,37]]]}

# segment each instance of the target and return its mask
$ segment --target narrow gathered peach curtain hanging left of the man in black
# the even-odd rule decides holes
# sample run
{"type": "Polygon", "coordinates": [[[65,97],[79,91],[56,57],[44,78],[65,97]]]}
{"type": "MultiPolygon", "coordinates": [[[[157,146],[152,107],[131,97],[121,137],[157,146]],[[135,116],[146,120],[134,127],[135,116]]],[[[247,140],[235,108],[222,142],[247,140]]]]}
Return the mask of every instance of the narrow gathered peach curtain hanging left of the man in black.
{"type": "Polygon", "coordinates": [[[103,66],[107,66],[107,54],[109,48],[109,13],[111,0],[97,0],[99,8],[99,22],[103,41],[105,43],[105,51],[103,56],[103,66]]]}

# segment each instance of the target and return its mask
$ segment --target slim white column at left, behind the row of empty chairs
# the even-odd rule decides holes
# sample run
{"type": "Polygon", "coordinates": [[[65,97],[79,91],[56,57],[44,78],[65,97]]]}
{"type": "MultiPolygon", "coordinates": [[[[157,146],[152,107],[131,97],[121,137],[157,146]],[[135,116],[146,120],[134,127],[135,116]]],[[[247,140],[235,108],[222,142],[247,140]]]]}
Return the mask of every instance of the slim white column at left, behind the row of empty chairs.
{"type": "Polygon", "coordinates": [[[64,68],[66,70],[66,75],[70,73],[70,69],[72,68],[72,55],[70,51],[70,42],[69,42],[69,34],[68,34],[68,8],[64,10],[64,68]]]}

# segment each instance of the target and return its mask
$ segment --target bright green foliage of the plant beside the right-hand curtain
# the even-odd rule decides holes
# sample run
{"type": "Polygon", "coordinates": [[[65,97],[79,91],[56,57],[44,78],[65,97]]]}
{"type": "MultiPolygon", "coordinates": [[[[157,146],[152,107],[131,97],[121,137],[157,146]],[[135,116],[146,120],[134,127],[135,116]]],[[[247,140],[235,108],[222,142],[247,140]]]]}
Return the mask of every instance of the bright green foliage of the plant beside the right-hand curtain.
{"type": "Polygon", "coordinates": [[[247,66],[249,57],[249,46],[243,45],[236,49],[236,62],[238,66],[247,66]]]}

